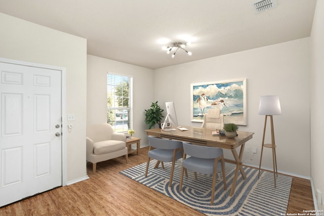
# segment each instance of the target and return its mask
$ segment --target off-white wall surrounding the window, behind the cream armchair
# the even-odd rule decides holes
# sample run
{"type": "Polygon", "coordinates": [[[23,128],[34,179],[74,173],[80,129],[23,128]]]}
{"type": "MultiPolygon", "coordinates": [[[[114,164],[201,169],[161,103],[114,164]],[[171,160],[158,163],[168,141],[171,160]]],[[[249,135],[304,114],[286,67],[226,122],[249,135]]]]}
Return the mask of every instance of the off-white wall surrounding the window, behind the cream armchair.
{"type": "Polygon", "coordinates": [[[107,122],[107,72],[133,77],[133,129],[147,143],[144,132],[145,109],[153,99],[153,71],[151,69],[88,55],[87,123],[107,122]]]}

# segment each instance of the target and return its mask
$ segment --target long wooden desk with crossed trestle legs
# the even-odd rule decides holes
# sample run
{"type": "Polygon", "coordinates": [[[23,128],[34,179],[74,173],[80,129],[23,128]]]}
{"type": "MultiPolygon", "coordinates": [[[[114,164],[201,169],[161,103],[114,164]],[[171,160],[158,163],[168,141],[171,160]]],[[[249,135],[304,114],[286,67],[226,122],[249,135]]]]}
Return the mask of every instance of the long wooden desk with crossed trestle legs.
{"type": "Polygon", "coordinates": [[[236,180],[238,175],[238,170],[240,171],[242,178],[245,180],[247,178],[245,171],[242,167],[242,155],[244,152],[245,143],[252,139],[254,135],[253,132],[242,132],[237,131],[238,136],[233,139],[228,139],[225,136],[213,136],[212,132],[215,131],[213,128],[205,127],[191,127],[184,126],[188,131],[163,131],[160,128],[147,129],[145,130],[148,136],[154,136],[159,138],[166,138],[171,140],[179,140],[183,142],[189,142],[191,144],[200,146],[210,146],[219,147],[223,149],[230,149],[235,160],[225,159],[226,162],[231,162],[236,164],[234,179],[232,188],[230,191],[230,196],[234,194],[236,180]],[[240,147],[239,154],[237,155],[236,148],[240,147]]]}

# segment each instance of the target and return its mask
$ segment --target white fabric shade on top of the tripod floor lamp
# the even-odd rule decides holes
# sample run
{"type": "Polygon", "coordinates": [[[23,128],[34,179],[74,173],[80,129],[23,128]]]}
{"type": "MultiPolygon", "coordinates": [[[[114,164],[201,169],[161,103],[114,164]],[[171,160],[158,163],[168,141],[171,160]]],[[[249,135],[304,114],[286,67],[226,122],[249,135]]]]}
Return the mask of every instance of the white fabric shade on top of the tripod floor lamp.
{"type": "Polygon", "coordinates": [[[261,96],[259,115],[281,115],[279,96],[261,96]]]}

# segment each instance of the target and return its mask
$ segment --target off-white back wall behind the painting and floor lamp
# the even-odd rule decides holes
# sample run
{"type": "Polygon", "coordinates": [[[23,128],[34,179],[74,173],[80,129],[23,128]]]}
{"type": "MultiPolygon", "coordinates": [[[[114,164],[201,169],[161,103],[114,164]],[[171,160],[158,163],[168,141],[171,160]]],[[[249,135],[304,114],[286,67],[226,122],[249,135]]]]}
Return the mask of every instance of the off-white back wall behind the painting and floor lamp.
{"type": "MultiPolygon", "coordinates": [[[[257,154],[244,153],[244,163],[258,167],[260,162],[260,96],[278,95],[282,115],[273,117],[278,171],[309,178],[309,38],[156,69],[154,89],[164,91],[155,91],[154,99],[161,106],[174,101],[179,124],[200,126],[190,121],[190,83],[237,78],[247,78],[247,126],[239,129],[254,132],[246,146],[258,148],[257,154]]],[[[262,166],[273,169],[271,150],[263,155],[262,166]]]]}

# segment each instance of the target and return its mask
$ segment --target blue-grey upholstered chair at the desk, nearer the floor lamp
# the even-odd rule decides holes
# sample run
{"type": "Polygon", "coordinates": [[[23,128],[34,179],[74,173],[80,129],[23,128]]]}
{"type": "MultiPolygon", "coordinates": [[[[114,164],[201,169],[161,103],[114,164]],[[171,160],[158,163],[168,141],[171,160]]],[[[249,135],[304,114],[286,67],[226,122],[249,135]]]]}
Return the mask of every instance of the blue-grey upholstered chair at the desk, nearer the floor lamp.
{"type": "Polygon", "coordinates": [[[184,158],[186,158],[186,155],[190,155],[191,157],[184,159],[182,162],[181,178],[180,178],[180,186],[179,186],[180,191],[182,190],[184,170],[189,169],[194,171],[195,180],[197,180],[197,172],[200,174],[213,174],[213,186],[212,186],[212,197],[211,197],[211,205],[213,205],[214,195],[215,195],[216,175],[217,175],[217,170],[220,168],[222,168],[223,170],[224,190],[227,190],[226,180],[225,180],[226,178],[225,178],[223,149],[183,143],[183,151],[184,151],[184,158]]]}

